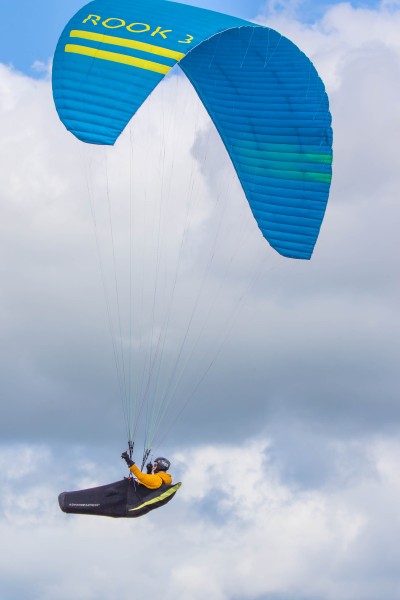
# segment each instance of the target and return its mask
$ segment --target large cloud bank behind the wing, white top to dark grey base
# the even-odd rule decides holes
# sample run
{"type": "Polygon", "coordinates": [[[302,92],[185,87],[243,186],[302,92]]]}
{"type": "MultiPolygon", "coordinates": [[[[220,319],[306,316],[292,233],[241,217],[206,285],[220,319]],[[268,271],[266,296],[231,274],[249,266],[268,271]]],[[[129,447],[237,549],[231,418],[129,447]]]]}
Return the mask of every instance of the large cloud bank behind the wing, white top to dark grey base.
{"type": "Polygon", "coordinates": [[[166,429],[189,403],[172,444],[397,429],[398,20],[348,4],[268,20],[331,101],[332,195],[308,264],[268,248],[183,78],[108,151],[65,132],[48,81],[1,68],[5,438],[115,444],[124,381],[175,405],[166,429]]]}

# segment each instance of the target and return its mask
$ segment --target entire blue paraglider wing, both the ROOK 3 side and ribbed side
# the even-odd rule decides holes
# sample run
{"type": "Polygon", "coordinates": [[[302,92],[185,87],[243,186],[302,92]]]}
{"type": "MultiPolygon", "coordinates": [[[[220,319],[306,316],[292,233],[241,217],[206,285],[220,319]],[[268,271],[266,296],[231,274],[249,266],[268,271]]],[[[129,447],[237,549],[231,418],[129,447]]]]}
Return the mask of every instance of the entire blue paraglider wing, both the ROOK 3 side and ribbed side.
{"type": "Polygon", "coordinates": [[[94,0],[57,46],[58,114],[80,140],[114,144],[178,62],[264,237],[284,256],[309,259],[329,195],[331,117],[310,60],[272,29],[165,0],[94,0]]]}

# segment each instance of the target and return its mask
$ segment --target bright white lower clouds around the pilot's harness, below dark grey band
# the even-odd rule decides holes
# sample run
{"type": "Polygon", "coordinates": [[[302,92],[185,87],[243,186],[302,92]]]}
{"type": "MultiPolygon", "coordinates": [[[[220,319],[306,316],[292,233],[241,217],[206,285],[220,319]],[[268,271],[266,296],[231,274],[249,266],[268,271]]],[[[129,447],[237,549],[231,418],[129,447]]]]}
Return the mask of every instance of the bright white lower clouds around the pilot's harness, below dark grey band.
{"type": "Polygon", "coordinates": [[[13,499],[0,517],[11,600],[28,590],[33,599],[124,600],[157,593],[160,580],[167,599],[396,598],[397,442],[336,444],[335,476],[304,491],[285,482],[272,441],[188,448],[173,456],[183,481],[174,501],[133,521],[62,515],[56,496],[68,464],[61,474],[45,448],[15,450],[37,461],[22,487],[1,476],[13,499]]]}

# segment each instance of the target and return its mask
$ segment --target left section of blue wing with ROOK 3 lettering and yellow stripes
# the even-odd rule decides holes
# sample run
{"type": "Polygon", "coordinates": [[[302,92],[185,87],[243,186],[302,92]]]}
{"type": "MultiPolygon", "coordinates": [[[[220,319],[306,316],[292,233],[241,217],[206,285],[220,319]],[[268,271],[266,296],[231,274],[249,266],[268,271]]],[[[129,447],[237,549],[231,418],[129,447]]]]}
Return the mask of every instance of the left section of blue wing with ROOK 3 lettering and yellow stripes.
{"type": "Polygon", "coordinates": [[[53,95],[66,128],[112,145],[171,68],[214,33],[246,21],[165,0],[95,0],[65,27],[53,95]]]}

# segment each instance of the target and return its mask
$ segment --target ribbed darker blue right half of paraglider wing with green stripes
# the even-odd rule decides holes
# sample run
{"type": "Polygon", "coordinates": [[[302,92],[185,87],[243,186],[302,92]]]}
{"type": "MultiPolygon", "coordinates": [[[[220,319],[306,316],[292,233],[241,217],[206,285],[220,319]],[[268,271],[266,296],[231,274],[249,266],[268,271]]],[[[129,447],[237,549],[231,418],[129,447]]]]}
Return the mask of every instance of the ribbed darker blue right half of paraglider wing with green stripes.
{"type": "Polygon", "coordinates": [[[283,256],[310,258],[332,163],[328,98],[310,60],[272,29],[240,27],[203,42],[180,66],[220,133],[264,237],[283,256]]]}

